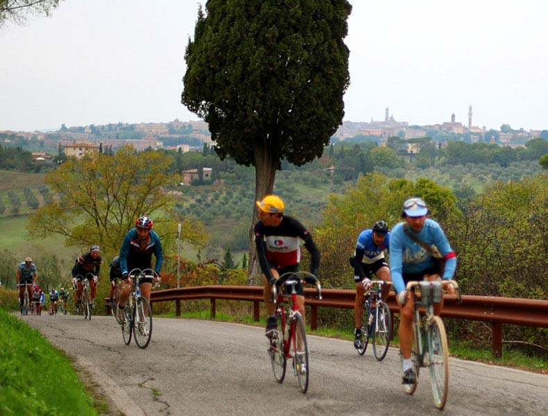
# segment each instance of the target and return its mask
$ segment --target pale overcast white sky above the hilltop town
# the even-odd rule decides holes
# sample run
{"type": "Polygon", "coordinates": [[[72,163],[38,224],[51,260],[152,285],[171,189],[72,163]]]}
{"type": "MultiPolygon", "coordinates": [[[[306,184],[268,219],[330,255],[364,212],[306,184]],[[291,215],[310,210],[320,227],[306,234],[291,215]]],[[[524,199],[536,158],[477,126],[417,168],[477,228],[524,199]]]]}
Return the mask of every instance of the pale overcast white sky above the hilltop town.
{"type": "MultiPolygon", "coordinates": [[[[205,4],[205,0],[202,1],[205,4]]],[[[548,1],[350,0],[345,120],[548,129],[548,1]]],[[[189,121],[196,0],[66,0],[0,33],[0,130],[189,121]]]]}

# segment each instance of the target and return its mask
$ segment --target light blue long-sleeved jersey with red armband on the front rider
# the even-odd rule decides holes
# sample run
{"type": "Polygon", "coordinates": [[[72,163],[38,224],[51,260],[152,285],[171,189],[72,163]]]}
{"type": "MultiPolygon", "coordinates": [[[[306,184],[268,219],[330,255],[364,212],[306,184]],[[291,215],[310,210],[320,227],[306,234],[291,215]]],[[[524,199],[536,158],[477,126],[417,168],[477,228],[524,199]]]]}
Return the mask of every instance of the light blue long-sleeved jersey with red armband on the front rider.
{"type": "MultiPolygon", "coordinates": [[[[393,227],[390,240],[390,272],[396,293],[405,290],[402,273],[420,273],[435,267],[431,255],[404,232],[404,224],[399,223],[393,227]]],[[[446,259],[443,279],[452,279],[456,269],[456,257],[440,225],[427,218],[425,226],[418,234],[411,228],[409,232],[427,245],[436,245],[446,259]]]]}

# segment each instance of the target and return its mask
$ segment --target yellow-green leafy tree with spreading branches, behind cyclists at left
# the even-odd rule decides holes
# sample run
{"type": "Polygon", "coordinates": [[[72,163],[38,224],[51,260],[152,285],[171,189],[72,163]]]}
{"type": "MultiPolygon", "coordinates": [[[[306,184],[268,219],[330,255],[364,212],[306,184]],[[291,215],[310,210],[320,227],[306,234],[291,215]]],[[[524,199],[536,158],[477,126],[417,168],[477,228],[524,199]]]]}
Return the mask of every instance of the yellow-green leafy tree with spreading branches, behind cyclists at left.
{"type": "MultiPolygon", "coordinates": [[[[173,201],[164,185],[177,182],[170,165],[171,158],[161,153],[137,154],[130,147],[114,156],[70,158],[46,175],[46,184],[58,198],[31,214],[29,234],[37,238],[60,234],[67,246],[87,249],[99,244],[102,252],[112,255],[135,226],[135,219],[150,214],[162,244],[173,243],[179,218],[167,220],[160,215],[169,211],[173,201]]],[[[183,224],[187,241],[203,242],[200,227],[183,224]]]]}

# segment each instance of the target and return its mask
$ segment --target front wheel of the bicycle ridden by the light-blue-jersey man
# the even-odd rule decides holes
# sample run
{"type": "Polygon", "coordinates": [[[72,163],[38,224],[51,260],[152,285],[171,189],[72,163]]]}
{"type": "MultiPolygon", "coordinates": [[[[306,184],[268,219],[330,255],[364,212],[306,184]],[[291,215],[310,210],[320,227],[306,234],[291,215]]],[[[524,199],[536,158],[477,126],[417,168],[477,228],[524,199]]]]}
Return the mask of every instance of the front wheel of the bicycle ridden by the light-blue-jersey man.
{"type": "Polygon", "coordinates": [[[439,316],[434,316],[428,328],[428,358],[432,393],[436,408],[443,409],[447,400],[449,383],[449,363],[445,325],[439,316]]]}

